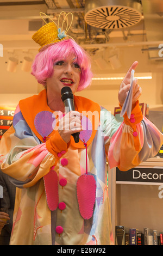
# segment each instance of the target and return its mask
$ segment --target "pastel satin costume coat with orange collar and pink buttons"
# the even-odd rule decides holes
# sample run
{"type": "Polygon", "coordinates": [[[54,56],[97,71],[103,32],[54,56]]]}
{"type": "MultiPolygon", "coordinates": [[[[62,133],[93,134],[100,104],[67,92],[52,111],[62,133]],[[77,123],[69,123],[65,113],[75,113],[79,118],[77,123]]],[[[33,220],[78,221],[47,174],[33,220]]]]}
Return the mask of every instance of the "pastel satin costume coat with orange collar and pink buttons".
{"type": "Polygon", "coordinates": [[[133,168],[158,153],[162,134],[139,102],[119,123],[97,103],[74,96],[83,131],[79,143],[71,136],[67,144],[57,130],[63,113],[53,113],[46,97],[42,90],[21,100],[1,139],[1,169],[17,186],[10,244],[112,245],[106,160],[110,168],[133,168]]]}

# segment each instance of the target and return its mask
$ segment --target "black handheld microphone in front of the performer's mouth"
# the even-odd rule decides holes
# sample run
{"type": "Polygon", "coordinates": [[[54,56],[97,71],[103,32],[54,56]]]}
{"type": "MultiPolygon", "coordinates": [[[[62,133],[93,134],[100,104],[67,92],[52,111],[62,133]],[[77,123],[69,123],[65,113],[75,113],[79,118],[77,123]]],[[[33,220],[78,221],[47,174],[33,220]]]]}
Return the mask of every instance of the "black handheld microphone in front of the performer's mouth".
{"type": "MultiPolygon", "coordinates": [[[[74,101],[73,101],[73,93],[70,87],[65,86],[61,89],[61,99],[64,102],[66,113],[69,111],[74,111],[74,101]]],[[[79,134],[80,132],[73,133],[72,136],[76,143],[79,142],[79,134]]]]}

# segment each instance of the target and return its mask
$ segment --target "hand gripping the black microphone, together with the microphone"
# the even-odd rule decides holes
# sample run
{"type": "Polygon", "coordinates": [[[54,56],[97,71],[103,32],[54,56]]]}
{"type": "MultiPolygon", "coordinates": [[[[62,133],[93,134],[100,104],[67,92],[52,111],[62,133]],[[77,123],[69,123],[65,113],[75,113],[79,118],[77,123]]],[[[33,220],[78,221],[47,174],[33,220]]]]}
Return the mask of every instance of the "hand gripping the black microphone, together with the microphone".
{"type": "Polygon", "coordinates": [[[61,99],[64,102],[66,114],[60,119],[58,131],[66,143],[70,141],[71,135],[76,143],[79,142],[79,133],[82,131],[82,113],[75,111],[73,93],[70,87],[61,89],[61,99]]]}

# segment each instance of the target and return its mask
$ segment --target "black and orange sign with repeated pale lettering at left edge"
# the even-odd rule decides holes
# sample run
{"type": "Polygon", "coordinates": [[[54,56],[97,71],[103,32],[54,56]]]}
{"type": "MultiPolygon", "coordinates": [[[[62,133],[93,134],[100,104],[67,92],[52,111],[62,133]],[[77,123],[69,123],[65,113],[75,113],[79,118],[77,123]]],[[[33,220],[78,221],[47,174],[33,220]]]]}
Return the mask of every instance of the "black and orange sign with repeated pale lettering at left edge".
{"type": "Polygon", "coordinates": [[[0,106],[0,139],[4,132],[6,132],[12,125],[12,119],[14,117],[14,107],[1,107],[0,106]]]}

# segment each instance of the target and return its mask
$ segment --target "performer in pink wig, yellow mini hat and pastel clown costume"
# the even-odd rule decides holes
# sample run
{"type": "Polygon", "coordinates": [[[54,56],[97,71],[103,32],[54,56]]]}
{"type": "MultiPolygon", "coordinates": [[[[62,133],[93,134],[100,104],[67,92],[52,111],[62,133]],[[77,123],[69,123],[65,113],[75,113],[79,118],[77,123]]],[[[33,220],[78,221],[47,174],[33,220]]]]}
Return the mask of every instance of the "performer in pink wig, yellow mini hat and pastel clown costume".
{"type": "MultiPolygon", "coordinates": [[[[163,142],[141,113],[137,80],[123,123],[75,95],[90,85],[92,73],[89,56],[67,31],[52,21],[33,35],[40,48],[32,75],[45,89],[18,103],[1,139],[1,170],[16,186],[10,245],[114,245],[106,161],[126,171],[156,155],[163,142]],[[72,90],[74,111],[65,112],[64,87],[72,90]],[[79,142],[71,136],[77,132],[79,142]]],[[[121,83],[121,108],[137,64],[121,83]]]]}

